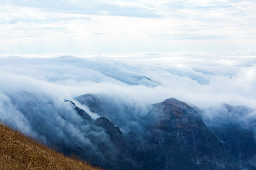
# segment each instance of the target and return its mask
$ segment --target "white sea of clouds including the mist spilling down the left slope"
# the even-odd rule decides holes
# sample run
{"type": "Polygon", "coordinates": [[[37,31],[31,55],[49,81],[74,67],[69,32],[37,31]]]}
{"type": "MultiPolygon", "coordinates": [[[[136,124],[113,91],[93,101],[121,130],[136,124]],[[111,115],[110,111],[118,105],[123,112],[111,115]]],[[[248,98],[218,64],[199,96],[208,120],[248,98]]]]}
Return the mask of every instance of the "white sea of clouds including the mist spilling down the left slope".
{"type": "Polygon", "coordinates": [[[64,102],[96,119],[97,113],[74,100],[87,93],[133,108],[174,97],[201,109],[223,103],[256,109],[256,54],[0,57],[0,119],[44,143],[92,146],[90,127],[64,102]]]}

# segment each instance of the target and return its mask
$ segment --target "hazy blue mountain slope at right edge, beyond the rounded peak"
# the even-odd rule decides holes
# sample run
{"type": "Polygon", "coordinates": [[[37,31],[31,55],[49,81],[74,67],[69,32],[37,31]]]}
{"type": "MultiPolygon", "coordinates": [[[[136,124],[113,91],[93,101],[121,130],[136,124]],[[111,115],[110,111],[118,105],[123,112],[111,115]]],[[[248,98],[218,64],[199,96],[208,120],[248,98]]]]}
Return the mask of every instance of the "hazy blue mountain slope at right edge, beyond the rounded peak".
{"type": "MultiPolygon", "coordinates": [[[[256,170],[256,115],[246,106],[223,104],[221,109],[209,109],[211,117],[202,116],[205,123],[222,141],[240,166],[256,170]]],[[[207,110],[209,112],[209,110],[207,110]]],[[[205,110],[200,110],[203,112],[205,110]]]]}

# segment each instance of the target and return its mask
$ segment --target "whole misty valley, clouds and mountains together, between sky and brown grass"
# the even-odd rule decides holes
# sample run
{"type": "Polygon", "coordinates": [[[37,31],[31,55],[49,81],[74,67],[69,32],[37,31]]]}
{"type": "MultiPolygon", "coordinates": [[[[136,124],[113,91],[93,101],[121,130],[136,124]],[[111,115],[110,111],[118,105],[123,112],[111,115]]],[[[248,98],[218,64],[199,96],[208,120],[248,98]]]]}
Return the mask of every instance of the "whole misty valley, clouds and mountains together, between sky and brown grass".
{"type": "Polygon", "coordinates": [[[256,169],[256,57],[0,58],[0,119],[110,170],[256,169]]]}

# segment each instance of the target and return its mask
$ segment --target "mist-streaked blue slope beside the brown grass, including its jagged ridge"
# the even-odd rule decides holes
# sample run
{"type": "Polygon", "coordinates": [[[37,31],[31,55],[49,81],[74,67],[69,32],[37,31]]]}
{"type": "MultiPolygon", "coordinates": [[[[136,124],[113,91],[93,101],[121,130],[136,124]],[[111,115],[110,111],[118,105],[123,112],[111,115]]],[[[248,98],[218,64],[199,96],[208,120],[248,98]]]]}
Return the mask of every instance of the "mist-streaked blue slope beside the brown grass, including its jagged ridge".
{"type": "Polygon", "coordinates": [[[29,133],[47,146],[106,169],[136,169],[122,147],[126,145],[122,133],[116,133],[119,127],[108,120],[94,120],[68,100],[56,101],[24,91],[8,95],[18,118],[25,119],[27,129],[31,129],[29,133]]]}

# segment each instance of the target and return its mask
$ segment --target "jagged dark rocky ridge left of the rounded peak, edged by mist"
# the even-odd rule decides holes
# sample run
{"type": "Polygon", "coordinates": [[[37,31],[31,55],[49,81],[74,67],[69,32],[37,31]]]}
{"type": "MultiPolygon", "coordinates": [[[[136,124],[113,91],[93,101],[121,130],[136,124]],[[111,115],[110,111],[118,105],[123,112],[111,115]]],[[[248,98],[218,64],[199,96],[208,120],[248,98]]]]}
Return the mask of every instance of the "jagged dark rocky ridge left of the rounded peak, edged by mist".
{"type": "MultiPolygon", "coordinates": [[[[94,127],[94,129],[92,130],[93,132],[97,132],[98,129],[102,128],[105,133],[110,136],[110,143],[106,143],[104,142],[104,140],[102,140],[101,143],[97,144],[99,150],[102,152],[102,156],[104,157],[101,162],[97,162],[97,159],[93,159],[90,155],[83,155],[80,154],[80,152],[77,152],[77,154],[81,156],[82,159],[85,159],[86,161],[90,160],[92,164],[100,165],[110,170],[128,170],[130,168],[136,169],[134,163],[131,161],[126,143],[119,127],[114,126],[114,124],[105,117],[100,117],[96,120],[93,120],[91,119],[90,115],[86,113],[86,111],[77,107],[72,101],[65,100],[65,102],[71,102],[73,104],[77,113],[86,121],[85,124],[94,127]]],[[[102,136],[98,137],[106,136],[102,134],[102,136]]],[[[95,136],[93,135],[88,136],[88,138],[91,140],[92,143],[97,143],[99,141],[99,139],[95,138],[95,136]]],[[[65,149],[63,148],[63,150],[65,149]]],[[[81,152],[86,153],[87,150],[81,148],[81,152]]]]}

